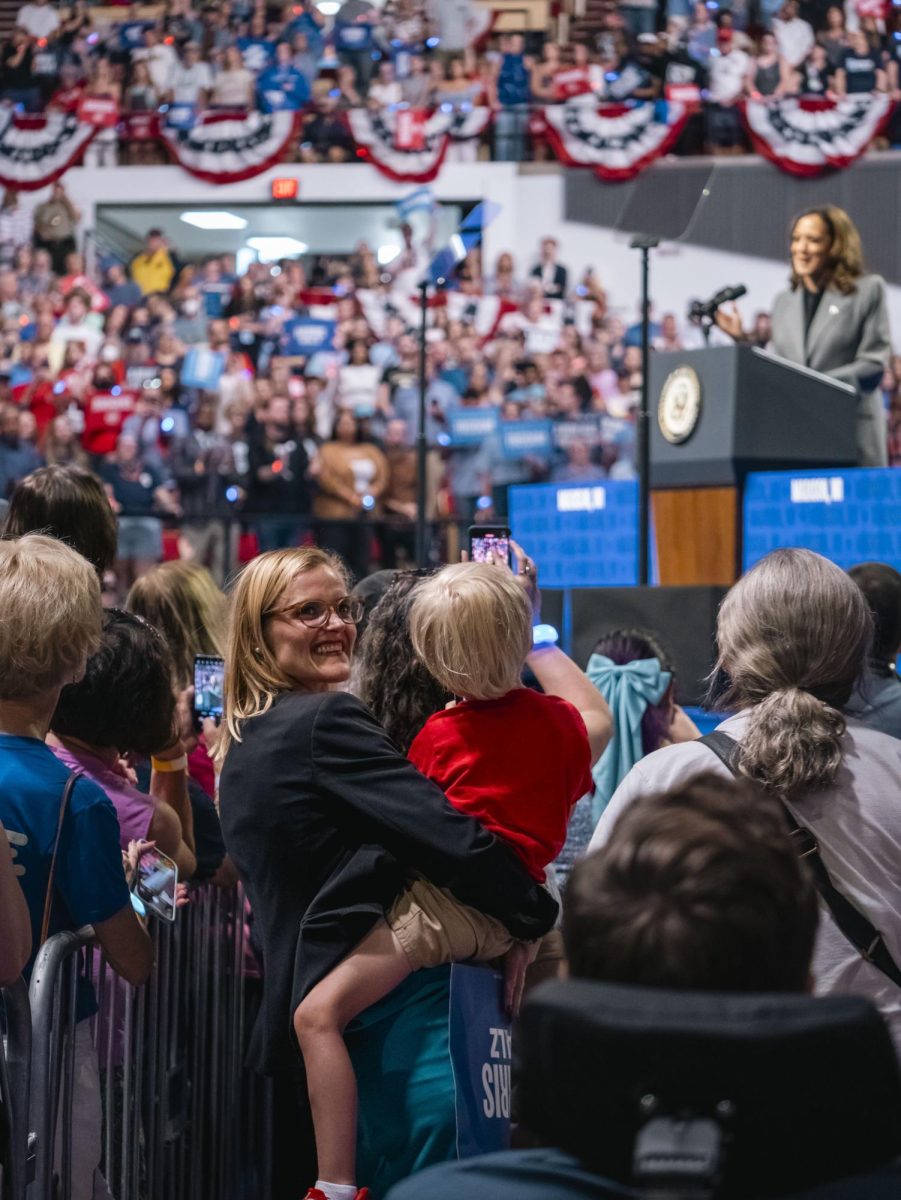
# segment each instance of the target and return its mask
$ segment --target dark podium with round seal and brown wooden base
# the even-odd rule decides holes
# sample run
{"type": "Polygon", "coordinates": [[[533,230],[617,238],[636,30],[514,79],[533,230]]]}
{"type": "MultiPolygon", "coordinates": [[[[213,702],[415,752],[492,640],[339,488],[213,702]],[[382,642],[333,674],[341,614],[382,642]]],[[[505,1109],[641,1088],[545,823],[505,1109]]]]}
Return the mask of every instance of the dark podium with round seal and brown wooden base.
{"type": "Polygon", "coordinates": [[[653,354],[650,484],[660,583],[740,574],[751,470],[857,464],[857,392],[747,346],[653,354]]]}

